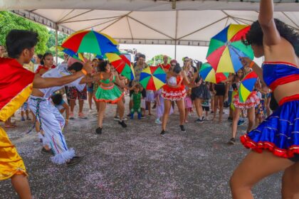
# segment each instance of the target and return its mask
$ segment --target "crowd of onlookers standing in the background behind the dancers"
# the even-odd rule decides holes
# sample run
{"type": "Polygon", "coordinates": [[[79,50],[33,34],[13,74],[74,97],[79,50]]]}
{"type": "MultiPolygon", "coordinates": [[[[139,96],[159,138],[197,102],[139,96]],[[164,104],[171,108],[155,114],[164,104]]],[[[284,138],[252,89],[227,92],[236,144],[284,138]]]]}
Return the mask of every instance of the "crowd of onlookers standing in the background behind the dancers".
{"type": "MultiPolygon", "coordinates": [[[[5,56],[5,48],[3,45],[0,45],[0,57],[3,58],[5,56]]],[[[96,66],[101,61],[103,60],[98,58],[93,59],[95,72],[98,70],[96,66]]],[[[70,58],[66,54],[64,55],[64,64],[71,65],[75,62],[78,62],[78,60],[70,58]]],[[[163,62],[159,63],[157,67],[162,68],[164,72],[168,72],[169,70],[172,70],[177,63],[177,60],[171,60],[169,62],[169,58],[165,55],[163,62]]],[[[48,70],[56,68],[53,55],[51,53],[34,55],[31,64],[33,65],[34,72],[38,75],[43,75],[48,70]]],[[[154,115],[156,119],[154,122],[156,124],[162,124],[162,116],[164,113],[164,100],[161,95],[162,88],[156,91],[145,90],[139,83],[140,73],[144,68],[148,67],[145,62],[145,55],[137,53],[135,63],[132,63],[132,65],[135,70],[135,80],[129,81],[125,79],[125,77],[122,77],[122,75],[119,75],[120,80],[123,83],[122,85],[125,85],[125,87],[117,85],[122,92],[125,92],[125,96],[130,97],[128,102],[129,112],[127,112],[127,118],[134,119],[134,114],[137,112],[137,119],[144,119],[146,115],[152,116],[155,112],[154,115]],[[153,110],[155,111],[153,112],[153,110]]],[[[256,122],[256,124],[261,123],[266,115],[270,114],[271,111],[269,104],[271,94],[270,92],[264,92],[258,81],[254,89],[256,96],[259,99],[258,103],[254,104],[253,109],[248,107],[236,108],[233,101],[234,98],[236,98],[238,86],[243,76],[250,72],[250,70],[241,69],[236,72],[236,74],[231,73],[226,80],[214,84],[206,82],[203,78],[201,78],[199,75],[201,65],[202,63],[199,61],[192,60],[188,57],[183,58],[182,70],[186,72],[189,81],[194,82],[193,87],[185,87],[187,96],[184,98],[184,122],[189,122],[189,115],[191,113],[196,114],[197,119],[195,119],[194,122],[199,124],[206,120],[222,122],[224,107],[228,107],[228,120],[233,122],[232,139],[229,143],[234,144],[236,142],[236,127],[234,126],[242,125],[245,122],[245,118],[248,117],[248,115],[251,115],[252,110],[254,112],[254,117],[248,117],[249,126],[252,125],[253,122],[256,122]],[[248,114],[249,112],[250,114],[248,114]],[[255,121],[253,121],[253,119],[255,121]],[[234,125],[234,123],[236,123],[236,125],[234,125]]],[[[52,102],[61,113],[65,112],[66,124],[68,124],[68,119],[75,119],[75,117],[87,119],[87,115],[90,115],[91,113],[98,113],[99,106],[98,102],[95,101],[94,95],[99,85],[100,82],[91,82],[88,83],[82,91],[79,91],[76,87],[65,87],[63,90],[58,90],[56,93],[53,93],[52,102]],[[85,104],[84,101],[88,101],[89,114],[83,112],[83,106],[85,104]],[[75,105],[78,105],[78,114],[74,113],[75,105]]],[[[125,97],[123,97],[122,100],[125,102],[125,97]]],[[[172,109],[169,114],[174,112],[174,108],[175,105],[174,102],[172,102],[172,109]]],[[[30,114],[27,102],[23,104],[19,112],[21,114],[21,121],[32,119],[33,122],[35,122],[34,114],[30,114]]],[[[127,120],[127,118],[124,118],[124,120],[127,120]]],[[[114,119],[119,119],[117,108],[115,110],[114,119]]],[[[4,127],[16,127],[16,120],[11,120],[11,118],[8,119],[5,122],[4,127]]],[[[38,125],[36,125],[36,128],[38,128],[38,125]]]]}

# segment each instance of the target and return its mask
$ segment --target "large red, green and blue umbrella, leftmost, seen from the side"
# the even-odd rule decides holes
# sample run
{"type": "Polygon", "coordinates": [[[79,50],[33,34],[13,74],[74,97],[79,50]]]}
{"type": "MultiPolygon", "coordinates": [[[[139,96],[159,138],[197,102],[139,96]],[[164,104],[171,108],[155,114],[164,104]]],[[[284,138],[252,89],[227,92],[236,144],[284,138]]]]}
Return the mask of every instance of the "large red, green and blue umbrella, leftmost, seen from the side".
{"type": "Polygon", "coordinates": [[[61,45],[63,48],[73,50],[75,53],[93,53],[103,55],[105,53],[118,52],[116,41],[111,41],[103,33],[96,31],[78,31],[65,39],[61,45]]]}

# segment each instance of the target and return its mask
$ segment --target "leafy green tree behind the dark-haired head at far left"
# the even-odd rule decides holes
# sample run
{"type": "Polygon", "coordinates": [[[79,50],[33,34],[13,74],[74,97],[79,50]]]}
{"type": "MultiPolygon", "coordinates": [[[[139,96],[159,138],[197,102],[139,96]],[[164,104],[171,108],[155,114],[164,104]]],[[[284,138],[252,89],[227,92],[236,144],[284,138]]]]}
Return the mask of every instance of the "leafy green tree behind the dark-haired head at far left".
{"type": "Polygon", "coordinates": [[[48,42],[49,33],[45,26],[30,21],[21,16],[16,16],[9,11],[0,11],[0,43],[5,45],[6,35],[13,29],[30,30],[38,33],[38,44],[36,45],[36,53],[43,54],[48,50],[46,43],[48,42]]]}

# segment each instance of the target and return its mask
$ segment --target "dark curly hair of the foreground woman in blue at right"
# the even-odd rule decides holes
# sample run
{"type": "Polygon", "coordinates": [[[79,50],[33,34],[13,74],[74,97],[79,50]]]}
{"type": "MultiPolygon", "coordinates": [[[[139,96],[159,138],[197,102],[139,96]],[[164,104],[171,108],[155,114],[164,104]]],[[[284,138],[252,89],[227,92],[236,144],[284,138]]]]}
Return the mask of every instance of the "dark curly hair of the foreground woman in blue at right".
{"type": "MultiPolygon", "coordinates": [[[[290,28],[287,24],[280,21],[278,18],[274,18],[276,28],[283,38],[293,45],[296,55],[299,57],[299,33],[296,32],[293,28],[290,28]]],[[[246,39],[242,38],[242,42],[245,45],[263,45],[263,31],[261,29],[260,23],[254,21],[251,24],[251,28],[246,33],[246,39]]]]}

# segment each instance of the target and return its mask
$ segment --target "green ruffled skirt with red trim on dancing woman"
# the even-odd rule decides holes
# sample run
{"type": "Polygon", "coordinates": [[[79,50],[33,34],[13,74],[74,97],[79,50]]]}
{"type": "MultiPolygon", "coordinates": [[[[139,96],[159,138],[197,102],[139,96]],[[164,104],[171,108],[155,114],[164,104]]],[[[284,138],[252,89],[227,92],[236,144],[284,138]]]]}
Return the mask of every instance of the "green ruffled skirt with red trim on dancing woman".
{"type": "Polygon", "coordinates": [[[97,92],[95,92],[95,100],[97,102],[107,102],[110,104],[116,104],[123,96],[124,93],[115,85],[112,85],[111,87],[103,87],[100,85],[97,92]]]}

